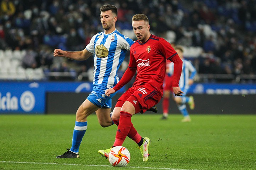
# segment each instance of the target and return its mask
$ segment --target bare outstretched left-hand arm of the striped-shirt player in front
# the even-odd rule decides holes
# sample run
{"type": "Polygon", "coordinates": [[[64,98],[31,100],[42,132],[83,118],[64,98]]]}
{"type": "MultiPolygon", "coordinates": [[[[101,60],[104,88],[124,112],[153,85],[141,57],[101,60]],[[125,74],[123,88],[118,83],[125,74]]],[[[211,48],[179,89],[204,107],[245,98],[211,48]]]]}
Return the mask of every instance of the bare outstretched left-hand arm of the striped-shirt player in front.
{"type": "Polygon", "coordinates": [[[84,49],[83,51],[63,51],[62,49],[54,49],[53,56],[54,57],[66,57],[68,59],[72,60],[86,60],[91,56],[92,53],[90,53],[87,49],[84,49]]]}

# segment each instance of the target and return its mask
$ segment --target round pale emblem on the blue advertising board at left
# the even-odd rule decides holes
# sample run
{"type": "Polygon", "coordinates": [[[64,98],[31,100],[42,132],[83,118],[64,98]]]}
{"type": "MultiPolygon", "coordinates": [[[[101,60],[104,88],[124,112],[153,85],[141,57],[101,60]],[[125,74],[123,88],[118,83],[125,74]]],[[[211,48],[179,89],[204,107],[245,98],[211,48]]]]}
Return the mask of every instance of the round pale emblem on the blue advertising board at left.
{"type": "Polygon", "coordinates": [[[28,90],[23,92],[20,98],[20,105],[21,105],[21,108],[26,112],[29,112],[32,109],[34,109],[35,107],[34,94],[28,90]]]}

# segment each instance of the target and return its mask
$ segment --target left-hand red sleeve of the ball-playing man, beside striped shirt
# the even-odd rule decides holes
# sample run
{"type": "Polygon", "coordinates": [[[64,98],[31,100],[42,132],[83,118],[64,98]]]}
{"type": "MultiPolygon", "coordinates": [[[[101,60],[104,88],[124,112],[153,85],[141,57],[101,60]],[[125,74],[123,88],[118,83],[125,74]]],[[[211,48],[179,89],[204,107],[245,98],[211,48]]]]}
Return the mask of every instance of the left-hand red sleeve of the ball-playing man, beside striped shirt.
{"type": "Polygon", "coordinates": [[[116,84],[115,87],[113,87],[113,89],[115,91],[121,89],[125,84],[127,84],[133,78],[133,76],[136,73],[136,70],[137,70],[136,61],[130,51],[130,61],[129,61],[128,68],[124,72],[121,80],[116,84]]]}

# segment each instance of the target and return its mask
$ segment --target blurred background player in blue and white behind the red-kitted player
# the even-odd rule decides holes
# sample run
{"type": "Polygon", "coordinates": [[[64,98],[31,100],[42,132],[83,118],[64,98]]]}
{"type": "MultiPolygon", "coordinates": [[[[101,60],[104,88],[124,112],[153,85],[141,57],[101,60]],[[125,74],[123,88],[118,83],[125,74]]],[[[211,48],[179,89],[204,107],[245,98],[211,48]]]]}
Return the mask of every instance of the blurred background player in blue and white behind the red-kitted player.
{"type": "MultiPolygon", "coordinates": [[[[176,46],[174,48],[178,53],[180,59],[183,61],[182,65],[182,73],[180,75],[179,87],[184,92],[183,96],[175,96],[174,101],[176,102],[179,111],[182,113],[184,118],[182,122],[191,122],[191,118],[189,116],[186,103],[189,104],[191,110],[195,108],[195,102],[193,96],[186,96],[188,89],[191,84],[194,83],[194,77],[196,75],[196,69],[192,65],[192,63],[188,60],[185,60],[183,57],[183,48],[181,46],[176,46]]],[[[173,63],[169,64],[169,75],[173,74],[173,63]]]]}

